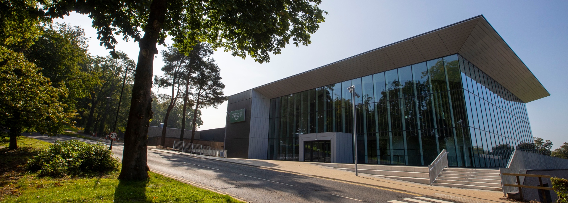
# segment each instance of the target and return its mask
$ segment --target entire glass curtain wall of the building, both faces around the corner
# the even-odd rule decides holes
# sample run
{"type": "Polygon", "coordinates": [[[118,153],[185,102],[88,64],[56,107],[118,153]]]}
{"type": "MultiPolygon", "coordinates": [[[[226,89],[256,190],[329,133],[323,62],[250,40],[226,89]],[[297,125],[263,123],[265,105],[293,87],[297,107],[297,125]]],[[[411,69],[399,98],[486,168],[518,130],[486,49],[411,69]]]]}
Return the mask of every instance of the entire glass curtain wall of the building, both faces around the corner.
{"type": "Polygon", "coordinates": [[[455,54],[273,98],[268,159],[298,161],[303,133],[352,133],[350,85],[359,163],[426,166],[446,149],[450,166],[502,167],[531,148],[525,104],[455,54]]]}

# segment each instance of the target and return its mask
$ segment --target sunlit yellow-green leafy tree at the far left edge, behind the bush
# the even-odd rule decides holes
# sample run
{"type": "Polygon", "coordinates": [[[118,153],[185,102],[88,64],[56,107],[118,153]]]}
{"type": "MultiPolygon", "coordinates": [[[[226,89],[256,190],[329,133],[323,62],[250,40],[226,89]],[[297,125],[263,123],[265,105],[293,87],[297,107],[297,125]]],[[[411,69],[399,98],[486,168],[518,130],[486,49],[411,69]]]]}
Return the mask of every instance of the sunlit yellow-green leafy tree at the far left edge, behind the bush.
{"type": "Polygon", "coordinates": [[[0,46],[0,126],[10,129],[10,148],[18,148],[16,136],[22,131],[54,133],[72,124],[74,111],[65,111],[60,101],[68,95],[64,82],[53,87],[22,53],[0,46]]]}

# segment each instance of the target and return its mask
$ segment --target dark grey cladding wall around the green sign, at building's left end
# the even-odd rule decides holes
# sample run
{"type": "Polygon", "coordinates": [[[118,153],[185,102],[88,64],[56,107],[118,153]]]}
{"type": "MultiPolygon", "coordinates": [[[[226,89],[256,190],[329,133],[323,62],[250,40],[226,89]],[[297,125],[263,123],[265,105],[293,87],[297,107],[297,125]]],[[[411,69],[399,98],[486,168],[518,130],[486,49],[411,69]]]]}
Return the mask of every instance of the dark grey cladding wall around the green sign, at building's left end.
{"type": "Polygon", "coordinates": [[[229,123],[228,115],[225,120],[225,149],[228,150],[229,158],[248,158],[251,103],[250,90],[229,96],[228,112],[246,109],[244,122],[229,123]]]}

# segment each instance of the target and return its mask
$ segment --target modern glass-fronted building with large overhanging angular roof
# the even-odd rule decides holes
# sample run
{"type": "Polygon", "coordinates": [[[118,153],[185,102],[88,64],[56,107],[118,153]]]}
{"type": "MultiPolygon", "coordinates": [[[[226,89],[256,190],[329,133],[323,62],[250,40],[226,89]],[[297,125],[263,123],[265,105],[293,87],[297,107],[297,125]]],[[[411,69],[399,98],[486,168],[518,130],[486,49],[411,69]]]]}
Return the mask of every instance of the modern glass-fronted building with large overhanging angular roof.
{"type": "Polygon", "coordinates": [[[525,103],[550,94],[482,16],[229,96],[229,157],[504,167],[534,149],[525,103]]]}

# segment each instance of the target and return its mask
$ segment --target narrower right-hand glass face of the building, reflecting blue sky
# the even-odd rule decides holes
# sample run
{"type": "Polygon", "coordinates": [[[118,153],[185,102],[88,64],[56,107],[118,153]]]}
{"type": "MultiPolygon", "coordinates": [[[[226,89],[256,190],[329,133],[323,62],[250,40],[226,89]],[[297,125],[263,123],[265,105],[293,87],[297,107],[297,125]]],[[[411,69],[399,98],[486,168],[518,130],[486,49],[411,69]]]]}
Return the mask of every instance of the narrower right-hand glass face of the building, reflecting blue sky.
{"type": "Polygon", "coordinates": [[[523,101],[460,56],[474,164],[506,167],[513,150],[534,151],[523,101]]]}

